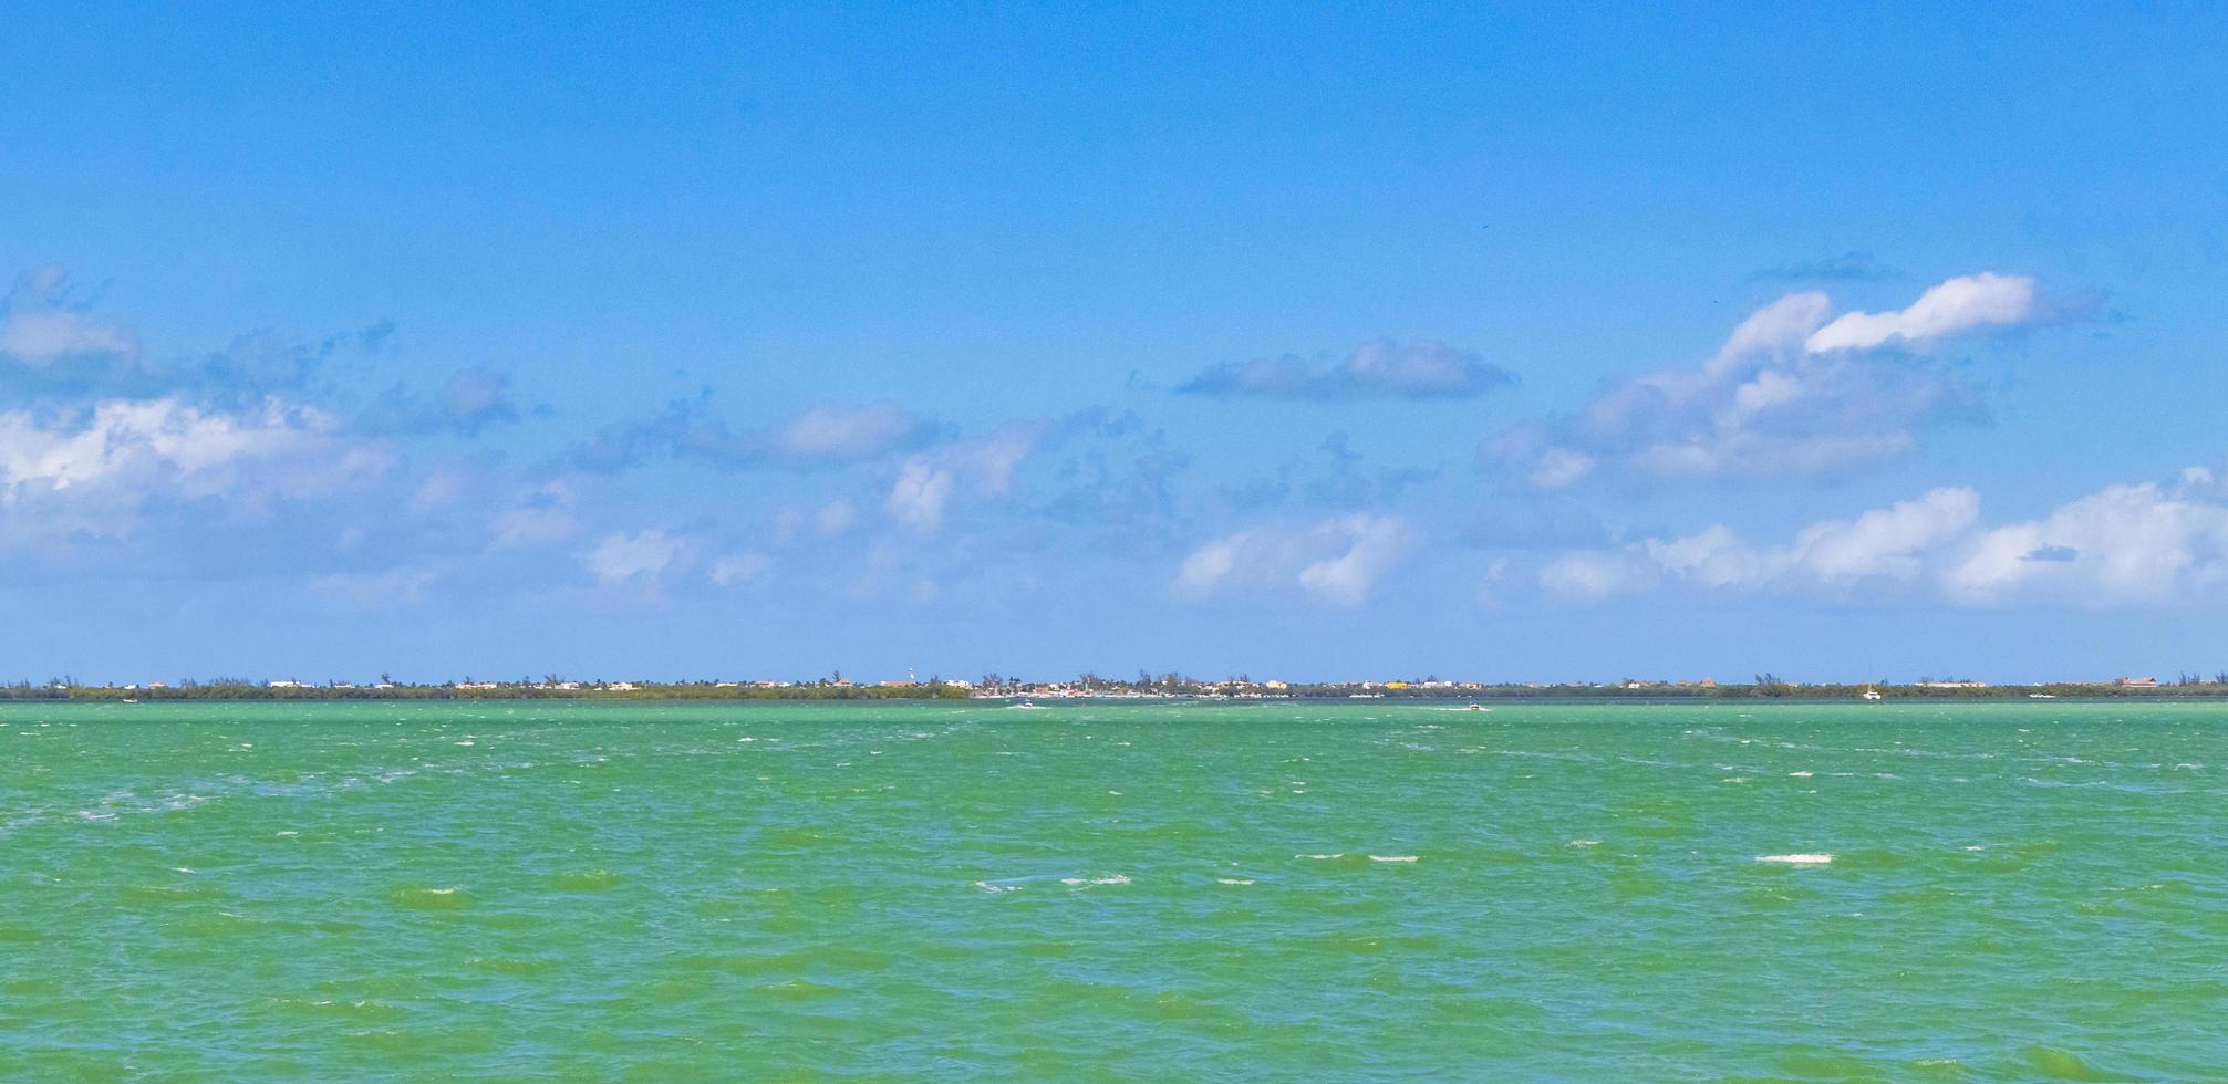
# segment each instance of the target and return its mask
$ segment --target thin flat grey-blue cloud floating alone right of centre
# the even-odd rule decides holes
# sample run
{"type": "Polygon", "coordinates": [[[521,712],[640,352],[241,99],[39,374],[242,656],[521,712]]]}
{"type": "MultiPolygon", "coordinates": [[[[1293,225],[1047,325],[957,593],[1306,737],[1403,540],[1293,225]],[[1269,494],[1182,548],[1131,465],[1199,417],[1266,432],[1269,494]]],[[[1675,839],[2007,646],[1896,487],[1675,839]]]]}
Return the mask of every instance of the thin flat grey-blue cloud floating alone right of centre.
{"type": "Polygon", "coordinates": [[[1473,398],[1515,378],[1468,349],[1437,341],[1361,343],[1343,358],[1283,354],[1214,365],[1176,387],[1196,396],[1252,398],[1473,398]]]}

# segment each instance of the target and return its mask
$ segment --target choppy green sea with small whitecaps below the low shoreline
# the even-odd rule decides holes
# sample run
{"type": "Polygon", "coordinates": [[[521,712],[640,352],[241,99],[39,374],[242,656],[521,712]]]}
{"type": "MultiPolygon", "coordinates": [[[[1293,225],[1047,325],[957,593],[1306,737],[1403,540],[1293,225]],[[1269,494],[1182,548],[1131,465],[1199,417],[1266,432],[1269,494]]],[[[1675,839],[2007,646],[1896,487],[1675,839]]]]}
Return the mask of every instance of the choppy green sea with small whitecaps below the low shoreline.
{"type": "Polygon", "coordinates": [[[2228,706],[0,706],[0,1080],[2228,1075],[2228,706]]]}

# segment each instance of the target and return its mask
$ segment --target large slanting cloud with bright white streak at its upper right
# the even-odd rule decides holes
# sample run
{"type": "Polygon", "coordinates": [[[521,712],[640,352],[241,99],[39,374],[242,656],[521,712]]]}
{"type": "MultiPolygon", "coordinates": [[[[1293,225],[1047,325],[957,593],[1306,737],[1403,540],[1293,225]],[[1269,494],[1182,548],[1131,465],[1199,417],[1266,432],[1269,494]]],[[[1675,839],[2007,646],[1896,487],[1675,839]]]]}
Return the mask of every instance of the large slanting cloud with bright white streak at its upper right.
{"type": "Polygon", "coordinates": [[[1511,427],[1479,454],[1537,490],[1622,481],[1814,476],[1909,452],[1918,434],[1981,421],[1978,392],[1909,347],[2027,321],[2034,280],[1976,274],[1907,309],[1831,314],[1798,292],[1749,314],[1691,369],[1618,383],[1575,414],[1511,427]],[[1869,349],[1869,347],[1900,349],[1869,349]]]}

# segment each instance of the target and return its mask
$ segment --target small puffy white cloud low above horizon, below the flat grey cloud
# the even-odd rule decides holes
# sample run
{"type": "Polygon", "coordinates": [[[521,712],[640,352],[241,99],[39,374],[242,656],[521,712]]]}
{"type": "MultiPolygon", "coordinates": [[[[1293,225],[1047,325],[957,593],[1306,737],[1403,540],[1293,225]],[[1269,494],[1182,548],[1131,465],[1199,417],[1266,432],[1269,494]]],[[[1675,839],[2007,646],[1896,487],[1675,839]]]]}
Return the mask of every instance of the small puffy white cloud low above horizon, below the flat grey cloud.
{"type": "Polygon", "coordinates": [[[1406,521],[1370,514],[1241,530],[1192,550],[1176,568],[1176,590],[1205,597],[1299,588],[1332,605],[1361,605],[1408,545],[1408,534],[1406,521]]]}

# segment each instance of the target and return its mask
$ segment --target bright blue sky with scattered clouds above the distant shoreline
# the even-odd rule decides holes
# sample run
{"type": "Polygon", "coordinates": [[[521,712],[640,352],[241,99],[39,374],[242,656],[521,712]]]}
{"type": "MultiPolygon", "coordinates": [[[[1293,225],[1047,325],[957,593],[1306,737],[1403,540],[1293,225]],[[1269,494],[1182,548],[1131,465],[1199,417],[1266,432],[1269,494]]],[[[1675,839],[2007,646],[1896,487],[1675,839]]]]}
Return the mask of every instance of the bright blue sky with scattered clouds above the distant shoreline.
{"type": "Polygon", "coordinates": [[[0,674],[2228,668],[2199,4],[0,33],[0,674]]]}

